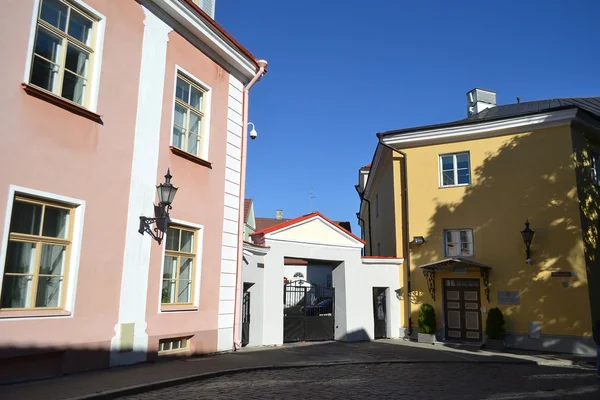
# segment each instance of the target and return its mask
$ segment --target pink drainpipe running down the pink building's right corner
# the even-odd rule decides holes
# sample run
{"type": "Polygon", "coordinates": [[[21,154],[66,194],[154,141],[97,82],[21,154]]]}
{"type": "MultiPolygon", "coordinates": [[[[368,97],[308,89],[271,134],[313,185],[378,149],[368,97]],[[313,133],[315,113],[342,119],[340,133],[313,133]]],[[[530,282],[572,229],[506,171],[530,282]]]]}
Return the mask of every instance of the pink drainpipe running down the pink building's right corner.
{"type": "Polygon", "coordinates": [[[242,298],[242,264],[243,264],[243,252],[244,252],[244,195],[246,189],[246,153],[248,143],[248,93],[254,84],[267,72],[268,63],[265,60],[258,60],[258,72],[254,75],[254,78],[246,85],[243,91],[243,111],[242,111],[242,161],[240,169],[240,213],[238,221],[238,256],[237,256],[237,269],[235,271],[235,308],[233,314],[233,350],[237,350],[237,347],[242,347],[240,342],[240,311],[241,304],[240,299],[242,298]]]}

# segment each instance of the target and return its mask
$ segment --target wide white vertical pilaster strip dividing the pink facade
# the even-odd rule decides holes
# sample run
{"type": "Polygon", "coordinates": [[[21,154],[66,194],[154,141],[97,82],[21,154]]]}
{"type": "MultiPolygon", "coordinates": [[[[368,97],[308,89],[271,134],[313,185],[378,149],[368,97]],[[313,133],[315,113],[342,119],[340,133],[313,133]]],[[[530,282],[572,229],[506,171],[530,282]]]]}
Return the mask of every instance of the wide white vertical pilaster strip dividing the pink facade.
{"type": "Polygon", "coordinates": [[[111,341],[110,365],[127,365],[146,360],[146,301],[152,239],[138,232],[141,215],[153,215],[156,196],[160,123],[167,64],[167,43],[171,27],[142,7],[144,38],[138,93],[131,185],[127,209],[127,230],[121,277],[119,319],[111,341]],[[133,326],[133,351],[121,351],[121,328],[133,326]]]}

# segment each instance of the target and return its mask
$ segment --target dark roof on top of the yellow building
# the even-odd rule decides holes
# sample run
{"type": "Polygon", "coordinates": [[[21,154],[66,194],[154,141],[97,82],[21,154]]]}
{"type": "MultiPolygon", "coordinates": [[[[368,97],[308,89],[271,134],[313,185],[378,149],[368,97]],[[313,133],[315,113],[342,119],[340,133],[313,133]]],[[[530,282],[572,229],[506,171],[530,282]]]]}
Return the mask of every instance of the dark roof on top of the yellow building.
{"type": "Polygon", "coordinates": [[[461,119],[453,122],[446,122],[435,125],[417,126],[406,129],[396,129],[392,131],[382,132],[378,135],[396,135],[399,133],[409,133],[426,129],[449,128],[453,126],[469,125],[477,122],[486,122],[501,120],[505,118],[520,117],[543,112],[558,111],[568,108],[579,108],[584,110],[596,118],[600,119],[600,97],[580,97],[566,99],[551,99],[526,101],[522,103],[506,104],[483,110],[480,113],[470,116],[469,118],[461,119]]]}

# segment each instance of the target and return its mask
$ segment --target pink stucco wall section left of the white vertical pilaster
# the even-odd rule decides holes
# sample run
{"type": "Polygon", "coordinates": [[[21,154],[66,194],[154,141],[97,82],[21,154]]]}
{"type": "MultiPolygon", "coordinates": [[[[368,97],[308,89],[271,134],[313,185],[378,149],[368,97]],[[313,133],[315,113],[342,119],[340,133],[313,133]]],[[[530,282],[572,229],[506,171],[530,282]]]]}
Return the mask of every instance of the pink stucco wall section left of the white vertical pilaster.
{"type": "MultiPolygon", "coordinates": [[[[144,14],[134,1],[86,0],[107,18],[98,124],[21,88],[34,0],[8,3],[3,5],[10,12],[0,13],[6,56],[0,76],[0,226],[11,184],[85,200],[86,212],[74,316],[9,320],[0,313],[0,347],[108,350],[119,312],[144,14]]],[[[103,353],[98,363],[107,362],[103,353]]]]}

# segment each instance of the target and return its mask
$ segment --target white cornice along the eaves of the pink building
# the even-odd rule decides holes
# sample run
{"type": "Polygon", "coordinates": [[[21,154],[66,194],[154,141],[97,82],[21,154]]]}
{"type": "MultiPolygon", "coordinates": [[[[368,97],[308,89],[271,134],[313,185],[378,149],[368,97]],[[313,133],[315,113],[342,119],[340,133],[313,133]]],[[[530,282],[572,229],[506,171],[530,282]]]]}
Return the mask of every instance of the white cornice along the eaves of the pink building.
{"type": "Polygon", "coordinates": [[[241,75],[245,78],[240,80],[247,82],[252,79],[258,71],[252,60],[241,54],[225,37],[202,20],[202,18],[196,15],[181,1],[143,0],[143,3],[148,3],[148,8],[153,9],[153,11],[158,11],[155,9],[155,7],[157,7],[160,11],[167,14],[181,26],[186,28],[194,37],[187,37],[189,35],[185,35],[185,32],[179,33],[186,36],[188,40],[201,50],[205,50],[202,48],[203,46],[201,46],[201,44],[208,47],[214,54],[221,58],[226,65],[231,66],[237,72],[237,74],[234,75],[241,75]],[[155,7],[152,7],[152,5],[155,7]]]}

